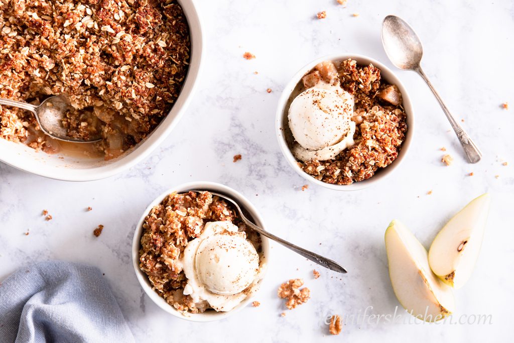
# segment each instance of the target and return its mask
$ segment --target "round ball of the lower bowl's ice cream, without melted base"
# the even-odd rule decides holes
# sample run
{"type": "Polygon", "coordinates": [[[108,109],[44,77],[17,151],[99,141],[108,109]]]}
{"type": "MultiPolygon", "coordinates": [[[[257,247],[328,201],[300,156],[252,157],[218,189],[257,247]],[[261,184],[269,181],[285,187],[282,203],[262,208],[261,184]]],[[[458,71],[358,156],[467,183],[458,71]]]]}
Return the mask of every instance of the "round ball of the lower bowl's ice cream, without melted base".
{"type": "Polygon", "coordinates": [[[246,237],[223,231],[200,243],[195,264],[200,282],[209,291],[236,294],[244,291],[257,276],[259,255],[246,237]]]}

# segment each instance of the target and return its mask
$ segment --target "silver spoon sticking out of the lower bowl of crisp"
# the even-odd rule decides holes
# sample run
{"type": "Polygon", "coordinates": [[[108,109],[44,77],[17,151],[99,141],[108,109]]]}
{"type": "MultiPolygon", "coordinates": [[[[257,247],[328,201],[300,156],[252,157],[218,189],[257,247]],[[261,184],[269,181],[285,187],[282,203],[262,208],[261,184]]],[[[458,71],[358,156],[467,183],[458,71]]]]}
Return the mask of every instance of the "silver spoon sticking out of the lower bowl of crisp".
{"type": "MultiPolygon", "coordinates": [[[[201,192],[201,191],[200,190],[192,190],[192,192],[201,192]]],[[[228,201],[237,210],[237,214],[240,216],[240,218],[243,220],[243,222],[245,222],[246,225],[251,227],[253,230],[259,232],[263,236],[266,236],[267,238],[272,239],[273,241],[276,241],[276,242],[282,244],[286,248],[289,248],[292,251],[297,252],[298,254],[302,255],[303,257],[305,257],[313,262],[316,262],[317,264],[319,264],[325,268],[334,270],[334,272],[338,272],[338,273],[346,273],[346,269],[344,269],[342,266],[340,266],[338,263],[332,261],[331,259],[327,259],[323,256],[315,254],[314,252],[311,252],[309,250],[301,248],[295,244],[284,241],[282,238],[279,238],[279,237],[275,236],[274,234],[271,234],[268,231],[265,231],[264,229],[260,228],[259,226],[253,224],[243,214],[241,207],[239,207],[239,205],[237,205],[237,203],[235,201],[233,201],[231,198],[229,198],[227,195],[214,193],[211,191],[209,191],[209,192],[212,195],[217,195],[217,196],[221,197],[223,200],[228,201]]]]}

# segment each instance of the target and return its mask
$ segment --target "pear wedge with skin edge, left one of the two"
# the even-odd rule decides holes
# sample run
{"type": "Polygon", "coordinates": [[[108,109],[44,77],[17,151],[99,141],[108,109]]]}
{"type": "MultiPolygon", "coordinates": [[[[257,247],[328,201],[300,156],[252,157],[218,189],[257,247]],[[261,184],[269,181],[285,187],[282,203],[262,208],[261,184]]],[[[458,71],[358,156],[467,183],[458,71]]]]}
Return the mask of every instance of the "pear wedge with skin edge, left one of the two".
{"type": "Polygon", "coordinates": [[[453,293],[430,270],[427,249],[396,220],[389,224],[385,238],[389,277],[401,305],[425,321],[450,315],[455,307],[453,293]]]}

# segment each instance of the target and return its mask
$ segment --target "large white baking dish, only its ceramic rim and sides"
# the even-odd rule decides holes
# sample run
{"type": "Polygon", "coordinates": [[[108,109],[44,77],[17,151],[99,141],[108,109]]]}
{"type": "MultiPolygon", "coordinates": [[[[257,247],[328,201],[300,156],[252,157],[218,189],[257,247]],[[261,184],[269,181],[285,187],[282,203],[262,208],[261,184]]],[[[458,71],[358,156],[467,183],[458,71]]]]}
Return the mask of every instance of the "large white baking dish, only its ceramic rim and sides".
{"type": "Polygon", "coordinates": [[[71,155],[49,155],[35,152],[22,143],[0,139],[0,161],[23,171],[67,181],[89,181],[105,178],[126,170],[148,156],[173,130],[196,88],[203,50],[202,32],[192,0],[178,0],[186,14],[191,37],[191,61],[186,80],[170,113],[151,134],[120,157],[104,161],[71,155]],[[59,158],[59,157],[64,158],[59,158]]]}

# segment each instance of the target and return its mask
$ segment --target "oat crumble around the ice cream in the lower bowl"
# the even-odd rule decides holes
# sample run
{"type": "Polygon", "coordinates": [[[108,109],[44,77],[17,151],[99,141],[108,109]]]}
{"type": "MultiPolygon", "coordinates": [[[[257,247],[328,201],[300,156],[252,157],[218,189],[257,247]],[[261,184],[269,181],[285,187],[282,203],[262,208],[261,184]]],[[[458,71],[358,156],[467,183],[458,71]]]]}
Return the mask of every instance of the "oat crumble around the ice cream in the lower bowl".
{"type": "Polygon", "coordinates": [[[152,208],[143,223],[139,268],[153,290],[181,312],[200,313],[208,303],[195,304],[183,295],[187,278],[180,257],[187,244],[200,236],[207,222],[228,221],[246,232],[246,238],[262,252],[258,233],[248,229],[223,200],[209,192],[173,193],[152,208]]]}

